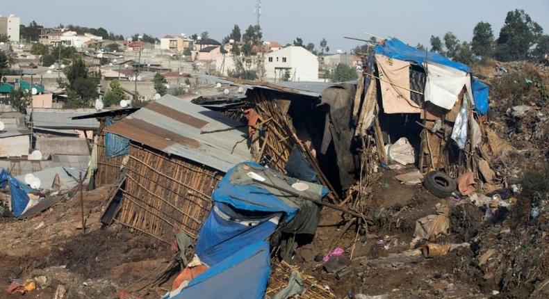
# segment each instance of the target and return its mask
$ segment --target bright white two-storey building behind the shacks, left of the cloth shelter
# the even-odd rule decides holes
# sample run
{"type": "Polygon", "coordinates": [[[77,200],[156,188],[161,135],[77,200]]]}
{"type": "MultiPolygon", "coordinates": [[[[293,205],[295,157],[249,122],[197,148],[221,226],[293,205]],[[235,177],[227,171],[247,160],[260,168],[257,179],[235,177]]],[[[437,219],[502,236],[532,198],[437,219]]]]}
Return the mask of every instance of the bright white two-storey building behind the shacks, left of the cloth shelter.
{"type": "Polygon", "coordinates": [[[290,46],[265,55],[265,77],[277,81],[289,72],[290,81],[318,81],[318,58],[304,47],[290,46]]]}

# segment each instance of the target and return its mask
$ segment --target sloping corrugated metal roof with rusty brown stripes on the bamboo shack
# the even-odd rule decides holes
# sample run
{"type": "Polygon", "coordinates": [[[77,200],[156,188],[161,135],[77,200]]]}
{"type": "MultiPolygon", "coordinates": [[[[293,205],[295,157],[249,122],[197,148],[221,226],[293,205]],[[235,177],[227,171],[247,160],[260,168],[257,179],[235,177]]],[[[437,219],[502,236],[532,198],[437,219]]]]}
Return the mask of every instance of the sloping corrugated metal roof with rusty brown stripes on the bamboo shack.
{"type": "Polygon", "coordinates": [[[227,172],[251,159],[245,128],[233,129],[241,126],[221,113],[165,95],[106,131],[227,172]],[[223,131],[206,133],[216,130],[223,131]]]}

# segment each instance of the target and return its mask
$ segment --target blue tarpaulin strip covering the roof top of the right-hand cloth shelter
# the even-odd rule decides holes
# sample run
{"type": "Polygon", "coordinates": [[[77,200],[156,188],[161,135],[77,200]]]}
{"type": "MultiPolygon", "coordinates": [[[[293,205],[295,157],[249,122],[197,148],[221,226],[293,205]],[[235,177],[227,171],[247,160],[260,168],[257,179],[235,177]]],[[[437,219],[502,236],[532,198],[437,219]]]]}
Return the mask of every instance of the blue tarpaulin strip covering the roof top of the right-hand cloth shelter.
{"type": "MultiPolygon", "coordinates": [[[[423,63],[425,62],[425,51],[406,45],[398,38],[385,40],[384,45],[376,45],[374,50],[375,54],[381,54],[399,60],[413,61],[420,66],[423,66],[423,63]]],[[[452,61],[438,53],[429,52],[429,54],[427,54],[427,60],[429,63],[448,65],[449,67],[454,67],[455,69],[464,72],[471,71],[467,65],[452,61]]]]}

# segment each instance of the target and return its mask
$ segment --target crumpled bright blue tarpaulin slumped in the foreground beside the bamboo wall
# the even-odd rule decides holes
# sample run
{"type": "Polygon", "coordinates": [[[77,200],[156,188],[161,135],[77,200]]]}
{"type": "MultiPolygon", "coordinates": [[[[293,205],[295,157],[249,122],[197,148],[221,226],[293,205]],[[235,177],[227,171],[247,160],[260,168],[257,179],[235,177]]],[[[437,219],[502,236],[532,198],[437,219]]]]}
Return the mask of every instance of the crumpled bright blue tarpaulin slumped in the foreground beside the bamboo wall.
{"type": "MultiPolygon", "coordinates": [[[[299,208],[266,188],[252,186],[247,173],[259,170],[267,169],[240,163],[220,181],[195,252],[210,268],[164,298],[263,298],[270,275],[269,238],[279,221],[290,222],[299,208]]],[[[325,195],[324,188],[318,190],[325,195]]]]}

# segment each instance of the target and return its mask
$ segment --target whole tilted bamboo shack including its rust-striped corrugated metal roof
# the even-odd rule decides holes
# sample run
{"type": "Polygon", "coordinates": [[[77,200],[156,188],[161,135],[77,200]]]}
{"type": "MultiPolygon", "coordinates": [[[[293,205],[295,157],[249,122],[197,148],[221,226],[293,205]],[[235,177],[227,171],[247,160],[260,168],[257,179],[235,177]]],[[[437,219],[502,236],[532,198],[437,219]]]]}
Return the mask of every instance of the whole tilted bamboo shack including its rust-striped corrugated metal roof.
{"type": "Polygon", "coordinates": [[[114,221],[167,244],[173,227],[195,239],[211,209],[213,188],[232,165],[250,159],[238,125],[165,95],[106,127],[116,137],[105,138],[106,150],[124,149],[117,152],[127,158],[120,191],[101,222],[114,221]]]}

